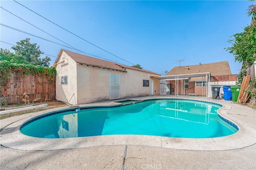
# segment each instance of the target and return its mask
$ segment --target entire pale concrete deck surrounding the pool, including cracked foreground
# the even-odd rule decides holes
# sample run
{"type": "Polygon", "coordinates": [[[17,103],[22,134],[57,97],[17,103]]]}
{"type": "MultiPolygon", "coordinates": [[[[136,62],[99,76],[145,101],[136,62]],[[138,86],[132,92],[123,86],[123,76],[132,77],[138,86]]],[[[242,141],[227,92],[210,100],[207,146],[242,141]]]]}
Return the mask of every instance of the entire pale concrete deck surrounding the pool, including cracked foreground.
{"type": "MultiPolygon", "coordinates": [[[[1,169],[256,169],[256,110],[206,97],[159,95],[130,98],[184,98],[220,103],[218,113],[239,131],[219,138],[169,138],[107,135],[44,139],[25,136],[19,128],[50,109],[0,121],[1,169]]],[[[91,103],[113,105],[112,101],[91,103]]]]}

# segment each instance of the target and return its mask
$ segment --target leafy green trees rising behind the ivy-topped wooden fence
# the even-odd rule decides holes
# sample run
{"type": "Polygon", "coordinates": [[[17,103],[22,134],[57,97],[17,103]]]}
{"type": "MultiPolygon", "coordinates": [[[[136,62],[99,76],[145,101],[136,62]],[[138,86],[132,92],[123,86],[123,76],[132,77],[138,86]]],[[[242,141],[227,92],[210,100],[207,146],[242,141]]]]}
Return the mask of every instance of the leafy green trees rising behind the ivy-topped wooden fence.
{"type": "Polygon", "coordinates": [[[46,56],[44,58],[40,58],[40,55],[43,54],[43,52],[39,49],[39,46],[36,46],[36,43],[30,43],[30,38],[17,42],[12,49],[14,50],[14,53],[7,49],[1,49],[0,59],[11,61],[13,63],[42,65],[45,67],[50,66],[50,57],[46,56]]]}

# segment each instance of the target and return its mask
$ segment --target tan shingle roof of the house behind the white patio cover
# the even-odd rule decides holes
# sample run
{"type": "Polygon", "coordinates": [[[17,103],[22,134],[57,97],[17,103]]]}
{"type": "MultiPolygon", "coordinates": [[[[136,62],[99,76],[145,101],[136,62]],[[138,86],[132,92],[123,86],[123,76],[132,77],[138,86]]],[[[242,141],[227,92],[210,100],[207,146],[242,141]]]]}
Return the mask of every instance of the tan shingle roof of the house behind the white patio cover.
{"type": "Polygon", "coordinates": [[[231,75],[231,70],[230,70],[228,61],[174,67],[166,75],[184,75],[184,74],[205,73],[205,72],[210,72],[211,76],[231,75]]]}

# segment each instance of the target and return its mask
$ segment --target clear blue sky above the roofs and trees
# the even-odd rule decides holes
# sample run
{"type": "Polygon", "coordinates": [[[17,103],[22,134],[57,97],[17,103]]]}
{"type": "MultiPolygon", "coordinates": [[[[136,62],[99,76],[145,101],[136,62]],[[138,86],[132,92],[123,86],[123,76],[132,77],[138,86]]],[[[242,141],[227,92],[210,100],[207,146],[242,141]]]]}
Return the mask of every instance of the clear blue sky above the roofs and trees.
{"type": "MultiPolygon", "coordinates": [[[[62,30],[13,0],[1,0],[0,6],[93,57],[125,65],[140,64],[162,75],[179,66],[180,59],[184,59],[182,66],[228,61],[232,74],[238,74],[241,63],[235,62],[234,56],[224,48],[231,46],[227,42],[230,36],[243,32],[250,24],[246,9],[255,4],[251,1],[18,2],[123,60],[62,30]]],[[[1,24],[64,44],[2,8],[1,24]]],[[[61,48],[81,53],[0,26],[3,42],[16,44],[26,38],[48,55],[57,56],[61,48]]],[[[3,42],[0,42],[1,48],[12,51],[12,45],[3,42]]],[[[56,57],[50,58],[52,65],[56,57]]]]}

